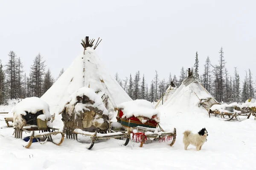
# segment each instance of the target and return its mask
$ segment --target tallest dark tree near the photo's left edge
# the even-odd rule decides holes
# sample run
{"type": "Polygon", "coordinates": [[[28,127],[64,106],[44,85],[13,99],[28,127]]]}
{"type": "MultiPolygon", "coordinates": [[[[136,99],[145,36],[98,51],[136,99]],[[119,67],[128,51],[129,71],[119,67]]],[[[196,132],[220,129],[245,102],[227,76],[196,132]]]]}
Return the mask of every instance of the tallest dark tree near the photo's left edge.
{"type": "Polygon", "coordinates": [[[11,99],[17,99],[17,55],[14,51],[10,51],[8,56],[9,60],[6,65],[6,76],[9,87],[9,97],[11,99]]]}

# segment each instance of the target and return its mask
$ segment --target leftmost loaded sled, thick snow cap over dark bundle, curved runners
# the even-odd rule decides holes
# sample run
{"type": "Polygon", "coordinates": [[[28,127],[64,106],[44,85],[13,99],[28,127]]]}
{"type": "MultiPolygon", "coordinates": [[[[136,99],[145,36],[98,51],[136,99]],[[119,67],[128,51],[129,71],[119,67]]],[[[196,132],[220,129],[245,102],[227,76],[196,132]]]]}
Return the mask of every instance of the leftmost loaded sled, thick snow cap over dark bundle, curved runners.
{"type": "Polygon", "coordinates": [[[50,115],[49,105],[40,98],[29,97],[23,99],[15,105],[12,112],[15,138],[28,139],[24,147],[29,148],[32,142],[44,144],[50,141],[56,145],[63,142],[64,133],[52,127],[55,114],[50,115]],[[39,131],[39,133],[35,134],[35,131],[39,131]],[[23,138],[23,132],[30,133],[30,136],[23,138]],[[61,139],[56,142],[52,139],[52,135],[57,134],[61,134],[61,139]]]}

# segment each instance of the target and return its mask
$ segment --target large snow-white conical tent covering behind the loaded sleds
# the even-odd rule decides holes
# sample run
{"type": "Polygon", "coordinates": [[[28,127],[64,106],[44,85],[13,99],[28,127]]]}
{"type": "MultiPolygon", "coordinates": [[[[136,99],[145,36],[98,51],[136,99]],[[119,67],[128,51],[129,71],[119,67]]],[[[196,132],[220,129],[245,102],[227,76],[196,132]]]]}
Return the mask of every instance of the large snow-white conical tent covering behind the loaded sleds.
{"type": "Polygon", "coordinates": [[[115,116],[116,105],[132,100],[90,47],[76,57],[41,99],[49,104],[51,114],[58,114],[70,95],[81,87],[93,88],[102,97],[110,119],[115,116]]]}

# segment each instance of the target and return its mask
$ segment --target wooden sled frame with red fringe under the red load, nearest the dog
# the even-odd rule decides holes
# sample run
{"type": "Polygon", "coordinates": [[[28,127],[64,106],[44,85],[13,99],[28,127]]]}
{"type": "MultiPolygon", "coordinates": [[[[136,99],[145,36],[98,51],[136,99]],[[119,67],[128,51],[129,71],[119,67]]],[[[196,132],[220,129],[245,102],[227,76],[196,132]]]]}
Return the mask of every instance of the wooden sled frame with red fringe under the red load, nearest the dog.
{"type": "MultiPolygon", "coordinates": [[[[159,125],[159,124],[158,124],[159,125]]],[[[160,127],[160,126],[159,126],[160,127]]],[[[163,131],[163,129],[160,127],[160,131],[158,131],[158,133],[155,133],[155,130],[156,128],[148,128],[148,127],[141,127],[141,126],[137,126],[137,127],[134,127],[134,129],[137,130],[137,133],[134,133],[134,132],[131,132],[133,133],[133,135],[136,135],[136,134],[141,134],[141,140],[140,140],[140,147],[143,146],[143,144],[145,144],[145,141],[147,138],[149,138],[150,140],[153,138],[153,139],[165,139],[166,137],[167,138],[171,138],[172,139],[172,143],[170,144],[170,146],[172,146],[175,141],[176,141],[176,136],[177,136],[177,133],[176,133],[176,128],[174,128],[173,132],[172,133],[166,133],[163,131]],[[149,132],[149,133],[148,133],[149,132]],[[151,133],[150,133],[151,132],[151,133]],[[146,134],[145,134],[146,133],[146,134]]]]}

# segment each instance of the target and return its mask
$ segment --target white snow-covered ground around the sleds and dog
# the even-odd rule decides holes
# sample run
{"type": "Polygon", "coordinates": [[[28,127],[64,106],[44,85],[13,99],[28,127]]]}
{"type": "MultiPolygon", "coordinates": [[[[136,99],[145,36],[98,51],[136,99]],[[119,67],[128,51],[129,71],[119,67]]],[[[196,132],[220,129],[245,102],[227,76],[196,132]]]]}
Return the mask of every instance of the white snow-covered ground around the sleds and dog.
{"type": "MultiPolygon", "coordinates": [[[[0,110],[3,107],[0,106],[0,110]]],[[[209,118],[202,110],[197,113],[175,113],[162,110],[161,126],[166,130],[177,129],[177,139],[170,147],[168,143],[144,144],[109,139],[96,142],[92,150],[85,144],[64,139],[60,146],[51,142],[33,143],[29,149],[21,139],[12,136],[14,131],[6,127],[4,115],[0,115],[0,165],[1,169],[37,170],[237,170],[256,168],[256,120],[251,116],[242,122],[223,121],[218,117],[209,118]],[[203,127],[208,131],[208,140],[201,151],[194,146],[183,147],[183,131],[198,132],[203,127]]],[[[56,119],[60,119],[60,115],[56,119]]],[[[61,121],[53,125],[60,127],[61,121]],[[59,125],[57,125],[59,124],[59,125]]],[[[24,132],[23,132],[24,133],[24,132]]],[[[23,134],[26,136],[27,134],[23,134]]],[[[60,138],[60,136],[56,136],[60,138]]]]}

